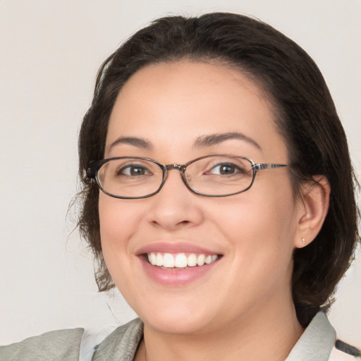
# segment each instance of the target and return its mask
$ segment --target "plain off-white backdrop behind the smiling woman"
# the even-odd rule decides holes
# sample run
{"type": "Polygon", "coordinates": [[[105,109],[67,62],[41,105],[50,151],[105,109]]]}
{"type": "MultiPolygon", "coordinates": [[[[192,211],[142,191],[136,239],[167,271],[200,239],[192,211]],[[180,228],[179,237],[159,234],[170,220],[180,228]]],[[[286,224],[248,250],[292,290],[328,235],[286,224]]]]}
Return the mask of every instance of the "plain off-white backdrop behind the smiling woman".
{"type": "MultiPolygon", "coordinates": [[[[298,42],[319,65],[361,169],[360,0],[0,1],[0,343],[52,329],[90,330],[135,317],[97,293],[92,257],[73,231],[77,136],[102,61],[169,14],[250,14],[298,42]]],[[[361,262],[330,318],[361,347],[361,262]]]]}

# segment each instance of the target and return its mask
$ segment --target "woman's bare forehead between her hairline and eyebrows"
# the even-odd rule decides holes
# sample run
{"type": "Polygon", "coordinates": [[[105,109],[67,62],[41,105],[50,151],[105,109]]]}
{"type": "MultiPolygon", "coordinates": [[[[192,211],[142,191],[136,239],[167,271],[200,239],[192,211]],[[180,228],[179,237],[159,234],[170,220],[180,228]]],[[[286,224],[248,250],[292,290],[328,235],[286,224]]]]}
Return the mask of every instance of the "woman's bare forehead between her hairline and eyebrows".
{"type": "Polygon", "coordinates": [[[264,149],[284,147],[264,92],[238,70],[211,63],[158,63],[121,89],[107,146],[120,136],[170,148],[191,147],[209,134],[243,133],[264,149]],[[277,144],[276,144],[277,143],[277,144]]]}

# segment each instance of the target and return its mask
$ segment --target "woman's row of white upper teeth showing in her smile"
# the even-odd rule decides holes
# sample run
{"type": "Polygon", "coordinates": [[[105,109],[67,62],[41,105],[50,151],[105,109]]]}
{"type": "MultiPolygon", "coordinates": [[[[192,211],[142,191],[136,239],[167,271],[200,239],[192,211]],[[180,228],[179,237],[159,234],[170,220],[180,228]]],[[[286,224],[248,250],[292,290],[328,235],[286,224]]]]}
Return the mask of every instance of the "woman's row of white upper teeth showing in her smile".
{"type": "Polygon", "coordinates": [[[149,263],[153,266],[166,267],[166,268],[184,268],[203,266],[214,262],[218,258],[217,255],[195,255],[191,253],[186,256],[184,253],[172,255],[171,253],[148,253],[149,263]]]}

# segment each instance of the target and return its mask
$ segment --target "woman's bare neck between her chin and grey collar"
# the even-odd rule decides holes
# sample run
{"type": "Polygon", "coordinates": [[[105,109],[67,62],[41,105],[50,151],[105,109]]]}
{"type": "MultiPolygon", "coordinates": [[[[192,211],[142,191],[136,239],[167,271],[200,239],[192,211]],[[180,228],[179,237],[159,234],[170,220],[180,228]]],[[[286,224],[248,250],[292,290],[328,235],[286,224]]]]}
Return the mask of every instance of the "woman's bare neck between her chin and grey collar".
{"type": "Polygon", "coordinates": [[[244,315],[216,331],[164,334],[145,324],[137,361],[283,361],[302,334],[295,309],[244,315]]]}

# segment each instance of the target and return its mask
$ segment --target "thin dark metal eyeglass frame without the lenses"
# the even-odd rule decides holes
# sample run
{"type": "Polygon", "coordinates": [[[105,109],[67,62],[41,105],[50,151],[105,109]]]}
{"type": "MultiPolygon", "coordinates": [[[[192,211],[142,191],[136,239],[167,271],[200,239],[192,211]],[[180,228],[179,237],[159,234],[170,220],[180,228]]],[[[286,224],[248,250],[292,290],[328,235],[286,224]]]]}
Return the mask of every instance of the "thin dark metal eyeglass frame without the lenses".
{"type": "Polygon", "coordinates": [[[154,159],[147,158],[147,157],[112,157],[112,158],[100,159],[98,161],[90,161],[90,163],[88,164],[87,169],[86,169],[86,175],[87,175],[87,178],[96,181],[100,190],[102,190],[102,192],[104,192],[106,195],[109,195],[110,197],[118,198],[121,200],[141,200],[144,198],[152,197],[153,195],[156,195],[158,192],[160,192],[161,188],[163,188],[164,183],[166,182],[168,171],[170,171],[171,169],[177,169],[178,171],[181,172],[181,178],[182,178],[183,183],[191,192],[193,192],[197,195],[202,195],[204,197],[229,197],[231,195],[238,195],[240,193],[245,192],[246,190],[249,190],[252,187],[253,182],[255,181],[255,176],[258,171],[262,171],[263,169],[283,168],[285,166],[288,166],[288,164],[255,163],[255,161],[252,161],[252,159],[250,159],[250,158],[243,157],[243,156],[237,156],[237,155],[233,155],[233,154],[208,154],[203,157],[198,157],[196,159],[192,159],[191,161],[188,161],[185,164],[176,164],[176,163],[161,164],[159,161],[156,161],[154,159]],[[187,167],[190,164],[195,163],[195,161],[199,161],[201,159],[208,158],[208,157],[234,157],[234,158],[242,158],[242,159],[249,161],[252,166],[252,181],[251,181],[250,185],[248,185],[248,187],[245,188],[244,190],[240,190],[239,192],[234,192],[234,193],[230,193],[230,194],[226,194],[226,195],[207,195],[205,193],[198,192],[197,190],[192,189],[190,184],[188,184],[187,178],[185,176],[185,170],[187,169],[187,167]],[[159,168],[163,171],[163,177],[162,177],[161,183],[159,185],[159,188],[155,192],[150,193],[149,195],[142,195],[140,197],[126,197],[126,196],[121,196],[121,195],[113,195],[113,194],[107,192],[99,182],[98,171],[99,171],[99,169],[102,168],[102,166],[104,166],[104,164],[108,163],[109,161],[116,160],[116,159],[142,159],[144,161],[151,161],[152,163],[157,164],[157,166],[159,166],[159,168]]]}

